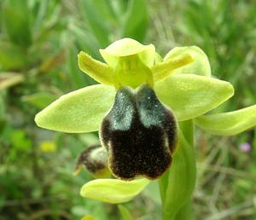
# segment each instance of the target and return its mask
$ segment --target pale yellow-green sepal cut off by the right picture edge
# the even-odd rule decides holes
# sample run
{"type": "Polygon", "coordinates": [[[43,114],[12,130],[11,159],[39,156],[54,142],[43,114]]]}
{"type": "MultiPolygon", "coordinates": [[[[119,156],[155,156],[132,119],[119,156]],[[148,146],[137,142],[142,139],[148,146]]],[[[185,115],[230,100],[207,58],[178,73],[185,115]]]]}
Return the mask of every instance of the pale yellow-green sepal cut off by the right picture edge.
{"type": "Polygon", "coordinates": [[[256,105],[229,113],[203,115],[195,119],[195,124],[213,135],[235,136],[256,126],[256,105]]]}

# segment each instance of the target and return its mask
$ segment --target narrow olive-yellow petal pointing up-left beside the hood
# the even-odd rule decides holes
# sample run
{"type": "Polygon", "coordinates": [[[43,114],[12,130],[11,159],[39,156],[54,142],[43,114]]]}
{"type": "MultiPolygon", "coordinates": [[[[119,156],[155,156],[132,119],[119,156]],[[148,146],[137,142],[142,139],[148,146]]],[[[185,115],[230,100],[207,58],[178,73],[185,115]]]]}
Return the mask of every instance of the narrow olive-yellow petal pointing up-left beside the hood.
{"type": "Polygon", "coordinates": [[[113,84],[113,69],[106,63],[96,61],[84,51],[79,53],[78,58],[80,70],[101,84],[113,84]]]}

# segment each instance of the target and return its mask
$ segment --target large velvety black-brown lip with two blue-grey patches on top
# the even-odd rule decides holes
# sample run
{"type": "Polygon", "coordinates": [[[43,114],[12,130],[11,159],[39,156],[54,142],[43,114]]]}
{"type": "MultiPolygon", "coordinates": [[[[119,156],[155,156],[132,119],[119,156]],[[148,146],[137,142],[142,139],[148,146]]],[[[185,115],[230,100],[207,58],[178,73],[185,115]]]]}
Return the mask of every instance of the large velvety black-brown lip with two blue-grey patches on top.
{"type": "Polygon", "coordinates": [[[102,121],[101,138],[115,177],[155,179],[172,163],[177,122],[148,84],[137,90],[124,86],[102,121]]]}

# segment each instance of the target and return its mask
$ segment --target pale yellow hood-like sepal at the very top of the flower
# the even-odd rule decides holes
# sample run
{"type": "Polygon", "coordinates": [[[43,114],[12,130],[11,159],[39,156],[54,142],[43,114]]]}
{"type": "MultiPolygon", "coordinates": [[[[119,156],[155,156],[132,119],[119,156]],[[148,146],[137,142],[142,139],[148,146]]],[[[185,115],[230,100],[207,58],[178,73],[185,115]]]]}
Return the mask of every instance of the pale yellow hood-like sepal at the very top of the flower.
{"type": "Polygon", "coordinates": [[[110,44],[106,49],[100,49],[103,59],[110,67],[115,67],[119,57],[139,55],[143,63],[151,67],[154,64],[154,45],[143,45],[131,38],[123,38],[110,44]]]}

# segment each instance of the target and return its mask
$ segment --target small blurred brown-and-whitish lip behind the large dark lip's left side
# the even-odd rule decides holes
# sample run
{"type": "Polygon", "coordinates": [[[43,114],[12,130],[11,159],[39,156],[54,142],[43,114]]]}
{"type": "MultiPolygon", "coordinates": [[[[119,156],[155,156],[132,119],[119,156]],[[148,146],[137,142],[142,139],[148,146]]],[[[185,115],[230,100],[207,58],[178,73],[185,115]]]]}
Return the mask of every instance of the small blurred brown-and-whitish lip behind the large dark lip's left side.
{"type": "Polygon", "coordinates": [[[106,148],[102,148],[101,145],[94,145],[80,153],[73,171],[74,175],[77,175],[83,166],[93,177],[109,177],[110,172],[108,170],[108,153],[106,148]]]}

